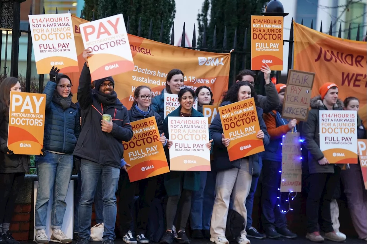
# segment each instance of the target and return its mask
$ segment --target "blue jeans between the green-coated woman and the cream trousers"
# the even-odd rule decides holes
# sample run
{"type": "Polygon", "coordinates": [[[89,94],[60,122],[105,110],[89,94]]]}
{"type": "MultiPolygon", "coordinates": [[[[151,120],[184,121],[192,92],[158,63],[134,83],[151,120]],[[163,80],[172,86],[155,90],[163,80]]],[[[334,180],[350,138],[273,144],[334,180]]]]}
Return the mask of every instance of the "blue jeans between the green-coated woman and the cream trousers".
{"type": "Polygon", "coordinates": [[[200,189],[192,192],[190,226],[192,230],[209,230],[215,199],[215,172],[200,172],[200,189]]]}

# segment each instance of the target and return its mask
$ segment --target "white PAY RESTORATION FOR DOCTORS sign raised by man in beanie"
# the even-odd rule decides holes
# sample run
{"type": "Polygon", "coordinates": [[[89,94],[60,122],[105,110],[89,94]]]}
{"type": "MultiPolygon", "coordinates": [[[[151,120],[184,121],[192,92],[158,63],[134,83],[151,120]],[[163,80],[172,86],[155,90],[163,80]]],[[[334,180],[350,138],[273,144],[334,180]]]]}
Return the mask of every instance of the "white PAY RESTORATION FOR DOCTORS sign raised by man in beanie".
{"type": "Polygon", "coordinates": [[[88,58],[92,80],[134,69],[122,14],[84,23],[79,27],[84,47],[94,54],[88,58]]]}

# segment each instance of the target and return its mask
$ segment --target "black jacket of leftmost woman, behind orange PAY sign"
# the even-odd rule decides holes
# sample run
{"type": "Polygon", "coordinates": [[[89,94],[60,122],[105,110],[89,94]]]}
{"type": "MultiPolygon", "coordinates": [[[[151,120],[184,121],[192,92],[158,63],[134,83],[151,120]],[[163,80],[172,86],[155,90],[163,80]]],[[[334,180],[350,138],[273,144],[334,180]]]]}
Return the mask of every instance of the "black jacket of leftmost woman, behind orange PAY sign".
{"type": "Polygon", "coordinates": [[[9,115],[3,113],[4,104],[0,102],[0,173],[29,172],[29,155],[8,156],[4,149],[8,146],[9,115]]]}

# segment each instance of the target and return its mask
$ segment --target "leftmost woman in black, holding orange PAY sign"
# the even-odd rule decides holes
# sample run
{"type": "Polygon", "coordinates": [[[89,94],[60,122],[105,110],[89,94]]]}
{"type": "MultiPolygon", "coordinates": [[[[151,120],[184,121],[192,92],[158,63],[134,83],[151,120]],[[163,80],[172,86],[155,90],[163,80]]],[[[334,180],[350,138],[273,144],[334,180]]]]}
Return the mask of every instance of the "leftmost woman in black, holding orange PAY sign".
{"type": "Polygon", "coordinates": [[[29,155],[13,154],[8,148],[10,92],[21,92],[18,78],[7,77],[0,84],[0,243],[19,244],[9,232],[15,199],[29,172],[29,155]]]}

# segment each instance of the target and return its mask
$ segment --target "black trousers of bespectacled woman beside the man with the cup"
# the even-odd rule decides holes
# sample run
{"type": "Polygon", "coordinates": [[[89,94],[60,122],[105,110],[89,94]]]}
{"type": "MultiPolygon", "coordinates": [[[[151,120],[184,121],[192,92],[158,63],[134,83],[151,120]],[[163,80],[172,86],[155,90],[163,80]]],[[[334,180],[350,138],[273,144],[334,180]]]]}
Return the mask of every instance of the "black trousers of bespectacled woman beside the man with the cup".
{"type": "Polygon", "coordinates": [[[157,189],[157,176],[153,176],[140,181],[130,182],[126,171],[120,173],[120,202],[119,214],[121,235],[126,234],[131,227],[134,227],[135,234],[146,234],[148,225],[149,208],[157,189]],[[139,188],[139,209],[137,211],[136,222],[133,219],[134,197],[139,188]]]}

